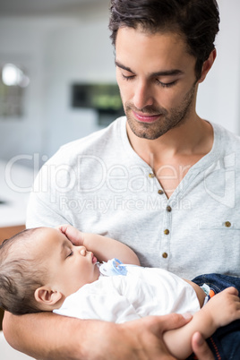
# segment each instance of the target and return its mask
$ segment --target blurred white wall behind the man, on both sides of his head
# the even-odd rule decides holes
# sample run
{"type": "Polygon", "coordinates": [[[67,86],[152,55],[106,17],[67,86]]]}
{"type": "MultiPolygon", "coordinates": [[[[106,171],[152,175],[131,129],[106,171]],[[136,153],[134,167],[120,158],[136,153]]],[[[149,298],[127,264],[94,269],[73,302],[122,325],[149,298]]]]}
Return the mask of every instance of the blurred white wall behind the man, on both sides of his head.
{"type": "MultiPolygon", "coordinates": [[[[197,109],[239,133],[240,2],[219,0],[219,8],[218,57],[200,86],[197,109]]],[[[115,81],[107,24],[108,0],[85,5],[72,18],[0,18],[0,64],[19,60],[30,72],[25,116],[0,118],[0,159],[34,152],[49,157],[62,143],[98,129],[93,111],[70,107],[70,85],[115,81]]]]}

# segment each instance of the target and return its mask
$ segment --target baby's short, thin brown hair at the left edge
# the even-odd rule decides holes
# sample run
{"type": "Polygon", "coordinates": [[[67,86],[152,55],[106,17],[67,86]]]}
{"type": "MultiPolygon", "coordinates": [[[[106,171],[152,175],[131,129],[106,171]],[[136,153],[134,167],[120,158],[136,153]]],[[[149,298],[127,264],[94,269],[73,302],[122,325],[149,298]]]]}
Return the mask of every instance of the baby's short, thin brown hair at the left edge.
{"type": "MultiPolygon", "coordinates": [[[[16,315],[38,313],[38,303],[34,298],[36,288],[41,287],[43,271],[39,272],[38,262],[28,254],[30,236],[38,228],[24,230],[4,240],[0,246],[0,306],[16,315]],[[26,252],[18,254],[18,244],[26,247],[26,252]],[[18,256],[20,256],[18,258],[18,256]]],[[[23,248],[24,249],[24,248],[23,248]]],[[[21,249],[22,250],[22,249],[21,249]]]]}

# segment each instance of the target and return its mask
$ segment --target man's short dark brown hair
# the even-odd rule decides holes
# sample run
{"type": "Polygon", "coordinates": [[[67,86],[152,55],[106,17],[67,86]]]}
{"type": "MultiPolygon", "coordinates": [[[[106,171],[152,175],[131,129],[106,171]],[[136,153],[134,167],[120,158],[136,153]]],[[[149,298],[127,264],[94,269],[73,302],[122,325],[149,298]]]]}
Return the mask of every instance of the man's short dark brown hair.
{"type": "Polygon", "coordinates": [[[111,0],[109,29],[113,45],[122,27],[150,33],[176,32],[184,37],[188,51],[196,58],[195,73],[211,51],[219,32],[219,6],[216,0],[111,0]]]}

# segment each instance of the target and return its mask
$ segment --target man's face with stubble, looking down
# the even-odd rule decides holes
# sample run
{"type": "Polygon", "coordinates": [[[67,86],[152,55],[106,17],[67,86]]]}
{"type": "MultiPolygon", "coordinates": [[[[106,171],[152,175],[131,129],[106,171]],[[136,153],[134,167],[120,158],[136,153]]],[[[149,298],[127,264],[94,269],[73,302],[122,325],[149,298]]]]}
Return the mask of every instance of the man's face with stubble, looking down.
{"type": "Polygon", "coordinates": [[[195,58],[175,33],[121,28],[116,37],[116,80],[135,135],[158,139],[195,116],[195,58]]]}

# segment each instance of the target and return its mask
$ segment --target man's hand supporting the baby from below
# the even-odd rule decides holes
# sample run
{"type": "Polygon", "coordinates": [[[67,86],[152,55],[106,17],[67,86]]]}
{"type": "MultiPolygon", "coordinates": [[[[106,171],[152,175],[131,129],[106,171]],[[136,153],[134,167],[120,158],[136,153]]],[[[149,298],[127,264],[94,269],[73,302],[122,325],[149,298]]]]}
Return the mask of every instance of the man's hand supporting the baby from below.
{"type": "Polygon", "coordinates": [[[191,316],[184,318],[180,314],[172,313],[118,325],[106,323],[106,331],[102,329],[100,338],[99,335],[95,340],[88,337],[81,343],[88,347],[85,348],[86,358],[90,360],[176,360],[167,350],[163,333],[184,326],[190,319],[191,316]]]}

